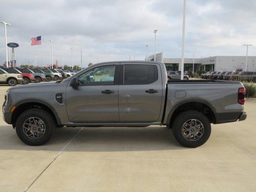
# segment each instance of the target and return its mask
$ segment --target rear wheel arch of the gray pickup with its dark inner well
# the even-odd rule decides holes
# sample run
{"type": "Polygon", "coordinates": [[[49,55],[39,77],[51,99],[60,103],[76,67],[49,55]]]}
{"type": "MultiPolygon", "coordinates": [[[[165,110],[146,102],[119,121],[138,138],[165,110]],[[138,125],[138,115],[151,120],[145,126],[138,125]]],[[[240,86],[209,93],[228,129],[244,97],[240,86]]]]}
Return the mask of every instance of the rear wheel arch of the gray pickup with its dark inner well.
{"type": "Polygon", "coordinates": [[[174,118],[183,111],[186,110],[196,110],[202,112],[206,115],[211,123],[216,123],[218,121],[218,114],[214,106],[206,100],[201,99],[191,99],[180,101],[175,104],[172,109],[170,110],[166,124],[172,124],[174,118]]]}

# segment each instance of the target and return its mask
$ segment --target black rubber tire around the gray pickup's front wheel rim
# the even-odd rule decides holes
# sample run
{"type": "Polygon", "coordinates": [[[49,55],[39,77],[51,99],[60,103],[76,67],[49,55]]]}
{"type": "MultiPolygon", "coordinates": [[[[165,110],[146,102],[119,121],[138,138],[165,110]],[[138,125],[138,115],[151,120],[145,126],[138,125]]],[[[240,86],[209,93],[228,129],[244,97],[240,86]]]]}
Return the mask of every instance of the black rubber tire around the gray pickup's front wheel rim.
{"type": "MultiPolygon", "coordinates": [[[[36,123],[35,123],[36,124],[36,123]]],[[[16,121],[16,133],[20,140],[24,142],[25,144],[31,145],[31,146],[39,146],[42,144],[45,144],[52,138],[54,131],[56,129],[56,121],[54,117],[47,112],[44,109],[39,109],[39,108],[34,108],[34,109],[29,109],[24,111],[20,116],[18,117],[16,121]],[[28,137],[25,132],[24,132],[24,122],[27,122],[28,118],[39,118],[40,120],[43,121],[45,125],[45,132],[42,137],[40,138],[30,138],[28,137]]],[[[30,132],[32,133],[32,130],[30,132]]]]}

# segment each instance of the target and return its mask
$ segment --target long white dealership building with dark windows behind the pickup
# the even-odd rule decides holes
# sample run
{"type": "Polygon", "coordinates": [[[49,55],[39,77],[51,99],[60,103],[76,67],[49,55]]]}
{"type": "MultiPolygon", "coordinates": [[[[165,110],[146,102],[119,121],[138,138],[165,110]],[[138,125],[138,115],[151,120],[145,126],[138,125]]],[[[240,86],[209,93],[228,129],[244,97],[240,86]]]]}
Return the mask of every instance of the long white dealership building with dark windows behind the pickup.
{"type": "MultiPolygon", "coordinates": [[[[146,58],[154,61],[154,55],[146,58]]],[[[163,52],[156,54],[156,61],[163,62],[166,70],[180,71],[180,58],[164,58],[163,52]]],[[[234,71],[238,68],[245,70],[246,56],[213,56],[194,58],[194,71],[234,71]]],[[[192,70],[193,58],[184,58],[184,71],[192,70]]],[[[256,56],[247,57],[247,71],[256,71],[256,56]]]]}

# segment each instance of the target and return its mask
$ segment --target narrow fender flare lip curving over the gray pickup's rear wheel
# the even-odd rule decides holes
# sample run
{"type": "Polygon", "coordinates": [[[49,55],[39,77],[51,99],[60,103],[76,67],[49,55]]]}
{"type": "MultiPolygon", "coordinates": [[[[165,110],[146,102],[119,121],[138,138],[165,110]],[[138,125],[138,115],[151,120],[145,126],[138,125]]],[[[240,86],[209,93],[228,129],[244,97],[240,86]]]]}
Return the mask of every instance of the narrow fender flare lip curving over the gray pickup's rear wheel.
{"type": "Polygon", "coordinates": [[[218,113],[217,113],[217,110],[216,108],[208,101],[206,100],[202,100],[202,99],[198,99],[198,98],[194,98],[194,99],[188,99],[188,100],[182,100],[178,103],[176,103],[172,109],[170,110],[168,116],[167,116],[167,119],[166,119],[166,124],[169,124],[170,123],[170,120],[172,118],[172,114],[174,113],[174,111],[180,107],[181,105],[183,104],[186,104],[186,103],[190,103],[190,102],[198,102],[198,103],[202,103],[202,104],[205,104],[206,106],[208,106],[214,113],[214,117],[215,117],[215,121],[218,122],[218,113]]]}

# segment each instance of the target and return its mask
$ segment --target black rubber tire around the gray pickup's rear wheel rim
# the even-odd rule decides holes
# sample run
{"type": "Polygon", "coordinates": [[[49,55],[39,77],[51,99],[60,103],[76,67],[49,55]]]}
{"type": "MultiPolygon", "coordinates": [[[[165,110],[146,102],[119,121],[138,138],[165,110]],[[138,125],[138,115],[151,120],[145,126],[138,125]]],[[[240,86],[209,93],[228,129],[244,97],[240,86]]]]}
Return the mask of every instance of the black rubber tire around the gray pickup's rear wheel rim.
{"type": "MultiPolygon", "coordinates": [[[[186,125],[188,126],[188,125],[186,125]]],[[[199,128],[198,128],[199,129],[199,128]]],[[[187,129],[188,130],[188,129],[187,129]]],[[[200,130],[202,131],[202,129],[200,130]]],[[[194,111],[194,110],[188,110],[188,111],[184,111],[181,112],[175,119],[174,122],[172,124],[172,133],[174,135],[174,137],[176,138],[176,140],[183,146],[185,147],[190,147],[190,148],[195,148],[195,147],[199,147],[202,144],[204,144],[208,138],[210,137],[211,134],[211,124],[208,120],[208,118],[202,114],[201,112],[198,111],[194,111]],[[188,138],[186,138],[184,136],[184,133],[182,133],[182,129],[183,125],[185,122],[188,122],[189,120],[198,120],[198,122],[201,122],[203,125],[203,134],[200,134],[198,132],[198,130],[194,130],[191,132],[191,128],[193,128],[193,126],[190,126],[190,132],[189,133],[198,133],[198,135],[200,136],[200,138],[198,138],[198,136],[193,135],[193,137],[189,138],[197,138],[197,140],[188,140],[188,138]]]]}

